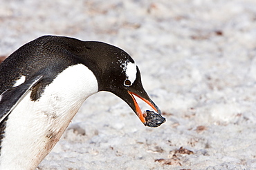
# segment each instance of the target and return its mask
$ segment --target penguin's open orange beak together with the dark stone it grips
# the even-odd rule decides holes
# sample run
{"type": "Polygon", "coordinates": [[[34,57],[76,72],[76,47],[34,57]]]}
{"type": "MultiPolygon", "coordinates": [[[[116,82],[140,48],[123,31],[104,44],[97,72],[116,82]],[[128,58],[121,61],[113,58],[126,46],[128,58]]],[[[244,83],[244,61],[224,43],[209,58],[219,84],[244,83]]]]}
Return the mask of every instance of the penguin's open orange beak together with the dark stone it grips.
{"type": "Polygon", "coordinates": [[[147,96],[146,98],[143,98],[141,96],[139,96],[138,94],[135,94],[134,92],[130,92],[128,91],[129,95],[131,96],[132,100],[134,101],[134,106],[135,106],[135,112],[138,116],[138,118],[140,118],[140,121],[145,125],[145,126],[149,126],[149,127],[158,127],[160,126],[162,123],[165,123],[165,118],[163,118],[161,116],[161,110],[156,106],[156,104],[147,96]],[[134,96],[140,98],[141,100],[143,100],[145,103],[147,103],[147,105],[149,105],[150,107],[152,107],[152,109],[154,109],[156,113],[154,113],[154,111],[145,111],[144,113],[141,111],[136,99],[134,98],[134,96]]]}

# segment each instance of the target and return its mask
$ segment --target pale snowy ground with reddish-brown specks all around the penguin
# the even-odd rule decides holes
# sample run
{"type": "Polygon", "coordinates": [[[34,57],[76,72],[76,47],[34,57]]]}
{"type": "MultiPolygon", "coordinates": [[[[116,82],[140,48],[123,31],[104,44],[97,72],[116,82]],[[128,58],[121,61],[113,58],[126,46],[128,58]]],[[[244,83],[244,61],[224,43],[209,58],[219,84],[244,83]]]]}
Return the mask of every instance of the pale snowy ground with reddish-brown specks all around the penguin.
{"type": "Polygon", "coordinates": [[[44,34],[127,51],[167,121],[100,92],[37,169],[256,169],[255,0],[1,1],[0,56],[44,34]]]}

